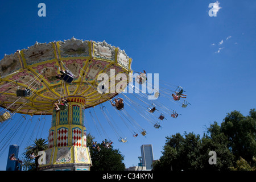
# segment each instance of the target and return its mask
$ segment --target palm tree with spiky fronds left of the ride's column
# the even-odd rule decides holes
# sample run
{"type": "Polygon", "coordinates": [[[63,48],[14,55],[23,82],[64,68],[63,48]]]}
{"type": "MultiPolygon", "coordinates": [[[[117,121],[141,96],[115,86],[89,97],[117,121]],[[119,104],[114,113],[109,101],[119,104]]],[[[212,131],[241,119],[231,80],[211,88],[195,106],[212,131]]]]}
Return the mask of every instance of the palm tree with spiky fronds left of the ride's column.
{"type": "MultiPolygon", "coordinates": [[[[46,139],[35,139],[34,144],[32,144],[31,146],[28,146],[26,148],[26,152],[24,152],[24,155],[27,159],[30,158],[30,154],[34,153],[35,156],[38,155],[39,151],[42,150],[46,150],[48,148],[48,144],[46,139]]],[[[40,158],[40,156],[36,156],[35,158],[35,166],[36,166],[36,171],[38,171],[38,159],[40,158]]]]}

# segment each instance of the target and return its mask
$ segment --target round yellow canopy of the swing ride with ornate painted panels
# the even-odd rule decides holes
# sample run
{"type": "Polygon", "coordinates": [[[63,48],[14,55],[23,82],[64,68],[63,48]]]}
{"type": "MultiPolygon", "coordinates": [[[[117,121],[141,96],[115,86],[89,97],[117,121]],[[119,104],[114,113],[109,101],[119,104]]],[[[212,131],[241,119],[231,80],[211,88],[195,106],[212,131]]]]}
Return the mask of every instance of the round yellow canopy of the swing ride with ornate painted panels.
{"type": "Polygon", "coordinates": [[[72,38],[64,42],[36,42],[0,61],[0,106],[22,114],[52,114],[53,103],[72,96],[83,98],[85,108],[96,106],[117,94],[98,92],[102,81],[98,75],[106,73],[110,78],[111,70],[115,75],[129,75],[131,61],[125,51],[105,41],[72,38]],[[73,73],[70,84],[58,77],[63,70],[73,73]],[[30,89],[32,94],[17,97],[18,86],[30,89]]]}

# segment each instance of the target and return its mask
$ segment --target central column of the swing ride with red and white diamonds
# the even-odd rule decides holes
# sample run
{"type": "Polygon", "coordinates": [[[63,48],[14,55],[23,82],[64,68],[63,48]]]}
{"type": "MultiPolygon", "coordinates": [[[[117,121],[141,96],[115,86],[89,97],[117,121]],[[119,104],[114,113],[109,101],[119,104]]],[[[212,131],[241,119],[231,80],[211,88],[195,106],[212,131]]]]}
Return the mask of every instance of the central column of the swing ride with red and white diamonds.
{"type": "Polygon", "coordinates": [[[85,98],[68,97],[67,101],[67,107],[60,107],[57,113],[53,107],[48,149],[40,170],[89,170],[92,164],[86,146],[85,98]]]}

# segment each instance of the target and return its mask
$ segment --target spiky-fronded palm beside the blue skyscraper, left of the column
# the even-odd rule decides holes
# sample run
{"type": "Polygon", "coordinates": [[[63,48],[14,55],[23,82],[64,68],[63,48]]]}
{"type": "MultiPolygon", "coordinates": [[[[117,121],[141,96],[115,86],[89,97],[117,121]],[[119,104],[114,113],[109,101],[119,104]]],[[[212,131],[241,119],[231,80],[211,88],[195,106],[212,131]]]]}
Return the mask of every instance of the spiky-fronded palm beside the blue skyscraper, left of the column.
{"type": "Polygon", "coordinates": [[[38,155],[39,151],[46,150],[47,148],[48,148],[48,144],[46,139],[42,139],[42,138],[35,139],[34,143],[31,146],[28,146],[26,148],[26,152],[24,152],[23,154],[26,158],[26,160],[24,160],[24,167],[28,169],[28,165],[31,165],[32,166],[31,170],[38,171],[38,159],[40,156],[37,156],[35,159],[33,159],[35,160],[35,162],[32,162],[30,159],[30,154],[34,152],[36,156],[38,155]]]}

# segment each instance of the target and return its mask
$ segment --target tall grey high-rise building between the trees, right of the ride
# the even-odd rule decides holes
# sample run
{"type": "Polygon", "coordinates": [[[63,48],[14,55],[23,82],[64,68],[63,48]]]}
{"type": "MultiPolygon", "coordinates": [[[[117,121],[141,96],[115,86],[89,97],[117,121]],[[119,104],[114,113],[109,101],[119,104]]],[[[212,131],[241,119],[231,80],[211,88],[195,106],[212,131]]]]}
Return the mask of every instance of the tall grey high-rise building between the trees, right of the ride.
{"type": "Polygon", "coordinates": [[[151,170],[151,164],[154,160],[153,148],[151,144],[143,144],[141,146],[142,166],[145,166],[147,170],[151,170]]]}

